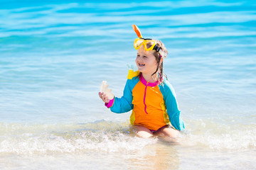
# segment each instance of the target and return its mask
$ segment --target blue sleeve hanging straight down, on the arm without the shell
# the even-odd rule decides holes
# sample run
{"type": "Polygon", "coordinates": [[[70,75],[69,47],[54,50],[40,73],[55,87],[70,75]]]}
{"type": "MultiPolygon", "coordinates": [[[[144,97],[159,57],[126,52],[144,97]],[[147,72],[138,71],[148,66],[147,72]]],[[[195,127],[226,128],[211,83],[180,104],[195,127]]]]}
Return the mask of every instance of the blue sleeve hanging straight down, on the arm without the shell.
{"type": "Polygon", "coordinates": [[[185,130],[183,120],[181,119],[181,111],[178,109],[174,88],[171,86],[169,81],[164,81],[164,85],[161,86],[160,90],[164,95],[167,114],[169,116],[171,125],[176,128],[176,130],[185,130]]]}

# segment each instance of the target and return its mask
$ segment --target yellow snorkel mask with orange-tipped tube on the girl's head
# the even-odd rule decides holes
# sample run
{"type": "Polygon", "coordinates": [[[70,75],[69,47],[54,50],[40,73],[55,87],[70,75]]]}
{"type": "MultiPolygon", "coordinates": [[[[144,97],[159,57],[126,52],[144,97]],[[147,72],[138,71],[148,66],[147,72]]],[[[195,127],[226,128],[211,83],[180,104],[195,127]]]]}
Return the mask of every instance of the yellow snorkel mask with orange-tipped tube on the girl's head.
{"type": "Polygon", "coordinates": [[[142,33],[140,32],[139,28],[136,25],[132,25],[135,33],[137,34],[138,38],[134,40],[134,48],[138,50],[142,45],[144,45],[144,49],[146,51],[149,50],[156,50],[159,52],[162,57],[166,57],[166,53],[161,50],[160,47],[156,45],[156,41],[150,38],[142,38],[142,33]]]}

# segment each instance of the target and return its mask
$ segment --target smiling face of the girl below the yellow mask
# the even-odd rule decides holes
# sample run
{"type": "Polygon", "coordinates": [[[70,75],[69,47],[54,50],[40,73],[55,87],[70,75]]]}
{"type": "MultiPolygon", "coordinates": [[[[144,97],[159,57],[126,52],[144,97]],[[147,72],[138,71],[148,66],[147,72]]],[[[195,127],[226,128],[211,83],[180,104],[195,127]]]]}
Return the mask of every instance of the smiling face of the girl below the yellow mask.
{"type": "Polygon", "coordinates": [[[142,74],[153,74],[157,68],[156,57],[153,55],[153,51],[144,50],[144,46],[139,48],[136,57],[136,64],[139,69],[139,72],[142,74]]]}

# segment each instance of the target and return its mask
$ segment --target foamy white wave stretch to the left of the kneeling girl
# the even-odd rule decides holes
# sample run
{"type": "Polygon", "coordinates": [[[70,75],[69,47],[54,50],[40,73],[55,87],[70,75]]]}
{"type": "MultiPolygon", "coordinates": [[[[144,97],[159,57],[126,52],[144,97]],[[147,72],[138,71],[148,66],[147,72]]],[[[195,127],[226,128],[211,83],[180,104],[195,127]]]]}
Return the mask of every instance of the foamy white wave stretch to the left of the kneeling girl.
{"type": "Polygon", "coordinates": [[[133,152],[154,144],[129,134],[126,123],[76,125],[1,124],[1,154],[78,154],[90,152],[133,152]]]}

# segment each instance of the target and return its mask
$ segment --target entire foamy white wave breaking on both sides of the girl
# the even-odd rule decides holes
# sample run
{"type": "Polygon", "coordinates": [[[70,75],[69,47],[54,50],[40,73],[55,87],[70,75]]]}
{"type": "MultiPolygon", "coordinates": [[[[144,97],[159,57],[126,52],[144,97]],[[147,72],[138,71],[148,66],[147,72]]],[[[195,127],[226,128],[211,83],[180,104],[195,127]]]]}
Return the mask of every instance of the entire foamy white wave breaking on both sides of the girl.
{"type": "MultiPolygon", "coordinates": [[[[178,137],[179,147],[213,150],[256,148],[256,126],[221,125],[193,120],[178,137]]],[[[129,130],[129,123],[106,120],[85,124],[23,125],[1,123],[1,154],[84,154],[91,152],[135,152],[161,142],[158,137],[142,139],[129,130]]]]}

